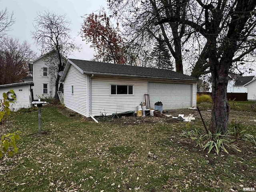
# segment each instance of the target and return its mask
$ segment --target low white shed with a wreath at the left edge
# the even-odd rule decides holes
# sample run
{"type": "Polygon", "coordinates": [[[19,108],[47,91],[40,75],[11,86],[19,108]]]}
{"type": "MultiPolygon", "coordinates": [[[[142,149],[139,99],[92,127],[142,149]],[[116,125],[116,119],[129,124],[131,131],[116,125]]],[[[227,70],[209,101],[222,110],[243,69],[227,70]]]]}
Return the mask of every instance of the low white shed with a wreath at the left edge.
{"type": "MultiPolygon", "coordinates": [[[[13,111],[17,111],[21,108],[30,108],[32,106],[32,93],[31,86],[33,86],[33,82],[23,82],[23,83],[12,83],[0,85],[0,95],[2,99],[2,94],[8,93],[10,90],[14,90],[16,94],[16,101],[14,103],[10,103],[10,109],[13,111]]],[[[11,100],[11,93],[8,94],[8,98],[11,100]]]]}

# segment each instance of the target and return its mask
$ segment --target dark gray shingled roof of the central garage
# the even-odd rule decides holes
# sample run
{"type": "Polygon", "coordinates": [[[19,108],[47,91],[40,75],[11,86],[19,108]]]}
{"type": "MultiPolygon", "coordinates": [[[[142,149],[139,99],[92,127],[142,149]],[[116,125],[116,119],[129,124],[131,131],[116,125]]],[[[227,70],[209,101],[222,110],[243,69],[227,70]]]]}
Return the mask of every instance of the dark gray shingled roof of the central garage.
{"type": "Polygon", "coordinates": [[[197,79],[182,73],[172,70],[138,67],[130,65],[120,65],[104,62],[85,61],[77,59],[69,59],[76,64],[84,73],[99,73],[99,74],[113,74],[124,76],[138,76],[138,77],[158,77],[168,78],[173,80],[194,80],[197,79]]]}

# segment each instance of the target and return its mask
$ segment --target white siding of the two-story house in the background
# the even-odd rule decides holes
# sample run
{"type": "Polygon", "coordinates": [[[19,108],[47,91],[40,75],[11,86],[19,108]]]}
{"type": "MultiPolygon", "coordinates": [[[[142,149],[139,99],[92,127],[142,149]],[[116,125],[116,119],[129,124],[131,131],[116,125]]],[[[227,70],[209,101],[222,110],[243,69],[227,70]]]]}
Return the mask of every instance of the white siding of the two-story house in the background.
{"type": "Polygon", "coordinates": [[[49,73],[49,68],[48,76],[43,76],[43,67],[48,67],[44,58],[33,63],[34,100],[38,100],[38,98],[53,98],[55,95],[55,78],[49,73]],[[48,94],[43,94],[43,84],[48,84],[48,94]]]}

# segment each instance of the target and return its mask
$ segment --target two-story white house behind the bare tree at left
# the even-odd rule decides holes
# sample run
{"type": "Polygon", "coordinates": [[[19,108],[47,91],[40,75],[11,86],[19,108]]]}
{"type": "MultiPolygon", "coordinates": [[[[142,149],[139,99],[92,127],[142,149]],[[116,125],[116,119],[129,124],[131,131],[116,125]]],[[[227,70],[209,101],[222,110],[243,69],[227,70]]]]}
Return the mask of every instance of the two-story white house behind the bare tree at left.
{"type": "Polygon", "coordinates": [[[54,72],[56,62],[51,60],[52,52],[48,52],[30,62],[30,70],[33,72],[34,100],[39,98],[53,98],[55,95],[55,82],[57,72],[54,72]]]}

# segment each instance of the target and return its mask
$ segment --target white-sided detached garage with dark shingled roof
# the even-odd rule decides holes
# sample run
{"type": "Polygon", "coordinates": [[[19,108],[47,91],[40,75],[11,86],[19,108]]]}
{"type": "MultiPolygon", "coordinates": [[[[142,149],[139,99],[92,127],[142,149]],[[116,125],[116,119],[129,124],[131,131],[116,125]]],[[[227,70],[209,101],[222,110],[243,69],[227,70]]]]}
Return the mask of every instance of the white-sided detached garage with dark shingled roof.
{"type": "Polygon", "coordinates": [[[196,78],[171,70],[68,59],[61,77],[64,105],[86,117],[137,110],[150,95],[150,108],[196,107],[196,78]]]}

